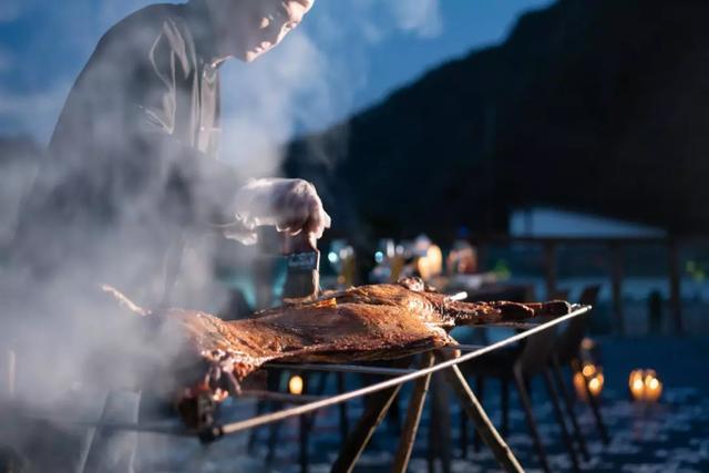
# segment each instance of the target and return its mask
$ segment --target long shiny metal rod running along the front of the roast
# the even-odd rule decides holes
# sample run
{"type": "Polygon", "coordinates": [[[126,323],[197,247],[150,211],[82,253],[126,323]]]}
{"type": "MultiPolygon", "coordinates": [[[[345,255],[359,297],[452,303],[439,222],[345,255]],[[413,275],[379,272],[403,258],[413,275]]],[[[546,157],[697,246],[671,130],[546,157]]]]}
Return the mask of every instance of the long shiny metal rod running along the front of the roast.
{"type": "Polygon", "coordinates": [[[524,332],[517,333],[517,335],[512,336],[510,338],[506,338],[504,340],[500,340],[500,341],[497,341],[495,343],[486,346],[485,348],[481,348],[477,351],[472,351],[470,353],[465,353],[465,354],[461,356],[460,358],[455,358],[455,359],[452,359],[452,360],[446,360],[446,361],[440,362],[438,364],[434,364],[431,368],[424,368],[424,369],[421,369],[421,370],[417,370],[417,371],[414,371],[412,373],[409,373],[409,374],[403,374],[403,376],[400,376],[398,378],[392,378],[392,379],[389,379],[389,380],[386,380],[386,381],[382,381],[382,382],[378,382],[376,384],[371,384],[371,385],[368,385],[368,387],[364,387],[364,388],[357,389],[354,391],[346,392],[343,394],[333,395],[333,397],[331,397],[329,399],[326,399],[326,400],[322,400],[322,401],[317,401],[317,402],[312,402],[312,403],[305,404],[305,405],[298,405],[296,408],[290,408],[290,409],[286,409],[286,410],[279,411],[279,412],[273,412],[273,413],[269,413],[269,414],[259,415],[259,417],[247,419],[247,420],[239,421],[239,422],[233,422],[233,423],[229,423],[229,424],[226,424],[226,425],[223,425],[223,426],[218,428],[218,433],[220,435],[228,435],[228,434],[232,434],[232,433],[240,432],[243,430],[253,429],[253,428],[256,428],[256,426],[259,426],[259,425],[265,425],[265,424],[268,424],[268,423],[271,423],[271,422],[279,422],[279,421],[282,421],[285,419],[289,419],[289,418],[292,418],[292,417],[296,417],[296,415],[302,415],[305,413],[312,412],[312,411],[316,411],[318,409],[328,408],[330,405],[339,404],[340,402],[347,402],[347,401],[350,401],[352,399],[360,398],[362,395],[368,395],[368,394],[371,394],[371,393],[374,393],[374,392],[378,392],[378,391],[382,391],[384,389],[392,388],[392,387],[402,384],[404,382],[412,381],[414,379],[424,377],[424,376],[427,376],[429,373],[433,373],[435,371],[441,371],[441,370],[444,370],[446,368],[451,368],[451,367],[453,367],[455,364],[472,360],[474,358],[482,357],[485,353],[489,353],[491,351],[497,350],[497,349],[500,349],[502,347],[506,347],[507,345],[512,345],[512,343],[514,343],[516,341],[520,341],[520,340],[522,340],[522,339],[524,339],[524,338],[526,338],[526,337],[528,337],[528,336],[531,336],[533,333],[541,332],[541,331],[546,330],[546,329],[548,329],[551,327],[554,327],[554,326],[556,326],[558,323],[563,323],[566,320],[573,319],[574,317],[578,317],[578,316],[580,316],[583,313],[586,313],[589,310],[590,310],[590,307],[580,307],[580,308],[572,311],[571,313],[567,313],[566,316],[558,317],[558,318],[556,318],[554,320],[551,320],[551,321],[548,321],[546,323],[543,323],[543,325],[540,325],[537,327],[531,328],[531,329],[528,329],[528,330],[526,330],[524,332]]]}

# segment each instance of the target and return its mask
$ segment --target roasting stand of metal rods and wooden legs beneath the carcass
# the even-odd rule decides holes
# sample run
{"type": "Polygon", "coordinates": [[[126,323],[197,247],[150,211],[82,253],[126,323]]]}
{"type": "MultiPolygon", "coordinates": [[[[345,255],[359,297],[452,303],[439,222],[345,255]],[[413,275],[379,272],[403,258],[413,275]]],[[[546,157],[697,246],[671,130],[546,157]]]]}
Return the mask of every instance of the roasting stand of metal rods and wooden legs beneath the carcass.
{"type": "MultiPolygon", "coordinates": [[[[431,382],[431,377],[435,372],[442,372],[446,383],[455,393],[461,402],[462,409],[465,411],[474,428],[479,432],[482,440],[492,450],[495,460],[505,471],[522,472],[524,471],[520,462],[515,457],[512,450],[507,446],[504,439],[493,426],[487,414],[480,404],[477,398],[465,381],[465,378],[459,370],[460,363],[482,357],[495,350],[500,350],[506,346],[524,340],[525,338],[553,329],[575,317],[580,317],[592,309],[590,306],[573,306],[571,313],[558,318],[540,318],[534,321],[525,322],[504,322],[475,326],[476,328],[508,328],[515,329],[516,333],[511,335],[500,341],[485,345],[458,345],[431,350],[421,357],[421,363],[418,368],[403,368],[395,362],[391,367],[371,367],[358,364],[289,364],[289,363],[270,363],[265,369],[287,369],[290,371],[322,371],[322,372],[345,372],[345,373],[362,373],[362,374],[380,374],[389,377],[388,379],[356,389],[349,392],[338,393],[329,397],[314,395],[292,395],[271,391],[244,391],[243,397],[256,398],[259,400],[270,400],[295,404],[292,407],[268,413],[257,414],[246,420],[229,422],[228,419],[214,420],[210,424],[201,430],[187,430],[185,428],[175,426],[174,423],[110,423],[96,422],[95,420],[76,421],[75,419],[60,419],[56,415],[39,415],[27,414],[32,419],[48,419],[54,422],[66,422],[71,424],[85,425],[86,428],[100,428],[107,430],[126,430],[134,432],[147,432],[165,435],[193,436],[203,442],[213,442],[228,435],[235,435],[256,429],[259,426],[281,422],[286,419],[295,418],[311,413],[314,411],[338,405],[357,398],[371,395],[367,403],[366,410],[349,432],[347,440],[342,443],[339,455],[332,465],[333,472],[350,472],[354,467],[358,459],[363,452],[367,443],[372,436],[374,430],[384,419],[389,408],[399,394],[401,387],[410,381],[414,382],[413,390],[409,400],[404,426],[401,434],[400,444],[394,456],[392,471],[405,472],[411,453],[415,434],[421,420],[423,404],[425,402],[427,392],[431,382]]],[[[16,412],[17,414],[17,412],[16,412]]]]}

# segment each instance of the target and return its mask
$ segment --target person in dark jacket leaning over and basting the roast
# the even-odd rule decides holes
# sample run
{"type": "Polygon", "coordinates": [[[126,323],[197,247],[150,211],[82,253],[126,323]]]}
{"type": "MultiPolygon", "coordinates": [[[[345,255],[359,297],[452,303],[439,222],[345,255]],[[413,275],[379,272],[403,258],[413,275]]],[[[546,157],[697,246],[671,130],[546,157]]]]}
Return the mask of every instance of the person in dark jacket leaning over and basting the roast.
{"type": "Polygon", "coordinates": [[[243,169],[217,161],[220,64],[266,53],[312,3],[156,4],[105,33],[69,94],[23,212],[16,254],[32,277],[71,271],[154,307],[166,304],[169,263],[191,236],[229,224],[230,235],[254,243],[254,226],[275,225],[304,230],[315,245],[329,217],[311,185],[245,186],[243,169]]]}

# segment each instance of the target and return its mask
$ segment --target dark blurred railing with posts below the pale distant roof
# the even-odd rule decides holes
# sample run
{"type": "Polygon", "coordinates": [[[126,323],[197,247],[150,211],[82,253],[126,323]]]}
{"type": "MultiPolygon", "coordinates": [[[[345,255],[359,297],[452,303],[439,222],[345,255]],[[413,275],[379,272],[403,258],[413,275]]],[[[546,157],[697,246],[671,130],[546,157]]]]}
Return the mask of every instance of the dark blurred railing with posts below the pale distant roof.
{"type": "MultiPolygon", "coordinates": [[[[626,248],[644,245],[655,245],[666,248],[668,258],[669,307],[672,317],[672,327],[676,333],[685,331],[682,323],[681,304],[681,265],[679,249],[684,245],[692,243],[709,243],[709,236],[699,237],[649,237],[649,238],[602,238],[602,237],[525,237],[525,236],[484,236],[472,238],[477,247],[479,260],[485,261],[492,245],[512,246],[514,244],[538,245],[544,251],[544,277],[547,294],[557,291],[559,246],[595,245],[607,248],[610,256],[610,292],[613,300],[614,331],[625,333],[625,320],[623,313],[623,280],[625,278],[623,255],[626,248]]],[[[489,269],[489,268],[481,268],[489,269]]]]}

